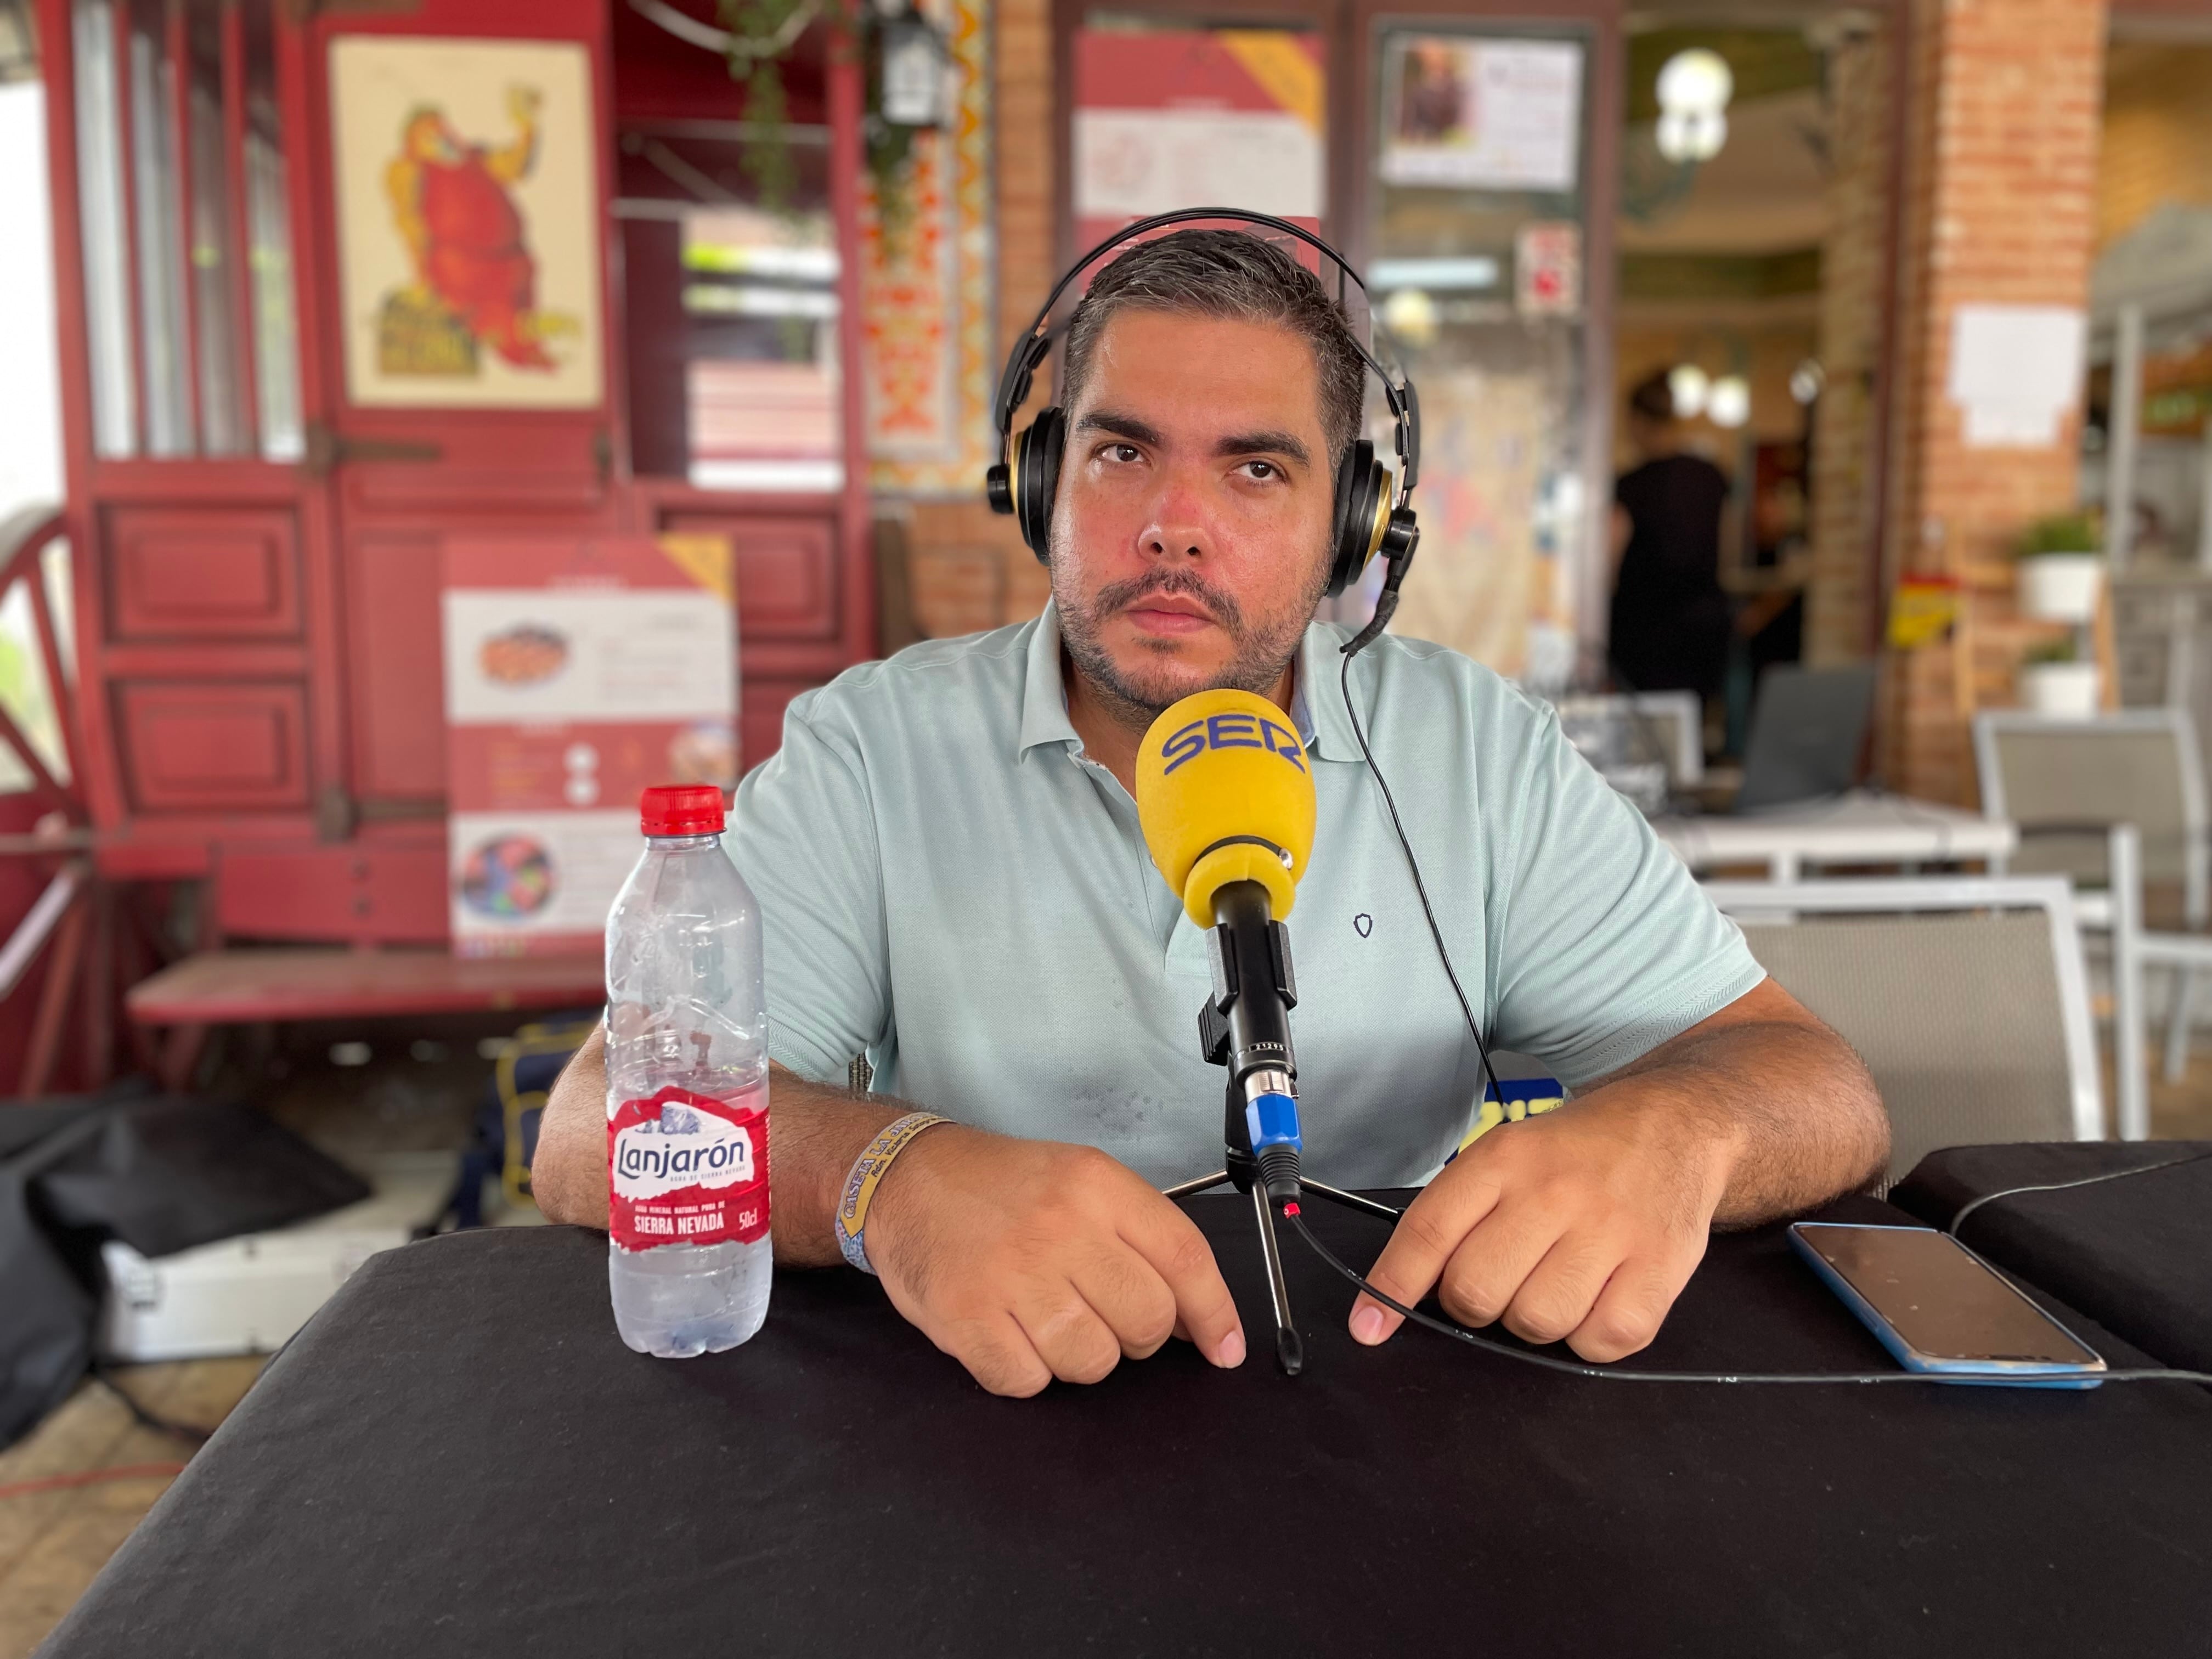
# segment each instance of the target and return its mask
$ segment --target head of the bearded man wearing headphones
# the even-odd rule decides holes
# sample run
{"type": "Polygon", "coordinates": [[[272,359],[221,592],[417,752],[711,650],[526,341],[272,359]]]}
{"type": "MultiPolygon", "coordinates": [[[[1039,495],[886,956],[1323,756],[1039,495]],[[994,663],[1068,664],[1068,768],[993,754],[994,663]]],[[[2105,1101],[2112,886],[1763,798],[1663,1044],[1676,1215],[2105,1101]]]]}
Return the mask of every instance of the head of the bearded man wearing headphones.
{"type": "Polygon", "coordinates": [[[1343,307],[1241,230],[1106,265],[1068,325],[1053,597],[1088,688],[1130,717],[1270,692],[1327,586],[1336,460],[1365,367],[1343,307]]]}

